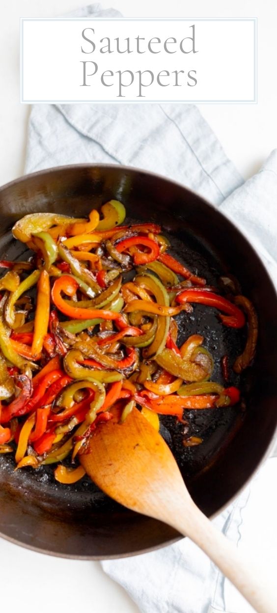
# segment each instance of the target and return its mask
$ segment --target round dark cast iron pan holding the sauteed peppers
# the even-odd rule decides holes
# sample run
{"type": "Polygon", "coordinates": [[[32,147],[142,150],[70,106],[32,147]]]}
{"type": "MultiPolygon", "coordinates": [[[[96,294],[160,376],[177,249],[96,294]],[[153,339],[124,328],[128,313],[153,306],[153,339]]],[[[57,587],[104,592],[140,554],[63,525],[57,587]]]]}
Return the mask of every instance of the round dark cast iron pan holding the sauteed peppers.
{"type": "MultiPolygon", "coordinates": [[[[24,246],[9,232],[26,213],[57,211],[86,216],[109,199],[121,200],[130,219],[153,221],[165,229],[173,253],[194,272],[218,285],[231,273],[259,316],[254,365],[232,384],[243,392],[235,408],[187,412],[199,447],[184,448],[183,425],[163,417],[161,433],[172,448],[192,497],[213,516],[237,495],[268,453],[277,421],[277,297],[259,257],[243,235],[205,200],[157,175],[121,166],[66,166],[37,172],[0,189],[0,257],[25,259],[24,246]]],[[[222,326],[215,310],[197,305],[181,314],[180,341],[201,333],[222,381],[220,359],[230,364],[245,332],[222,326]]],[[[179,538],[172,528],[127,511],[83,479],[68,486],[53,479],[53,468],[13,472],[0,455],[0,533],[4,538],[52,555],[74,558],[123,557],[164,546],[179,538]]]]}

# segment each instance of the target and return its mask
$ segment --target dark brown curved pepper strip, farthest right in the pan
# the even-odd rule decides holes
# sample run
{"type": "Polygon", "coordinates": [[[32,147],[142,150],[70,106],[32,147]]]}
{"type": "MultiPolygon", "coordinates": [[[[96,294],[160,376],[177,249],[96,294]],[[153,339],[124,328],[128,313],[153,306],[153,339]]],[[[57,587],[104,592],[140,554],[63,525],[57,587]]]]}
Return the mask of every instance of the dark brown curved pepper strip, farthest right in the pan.
{"type": "Polygon", "coordinates": [[[237,357],[233,365],[235,373],[241,373],[242,370],[245,370],[245,368],[249,366],[255,356],[258,336],[258,318],[252,302],[245,296],[236,296],[235,304],[243,308],[248,319],[248,335],[245,349],[242,354],[237,357]]]}

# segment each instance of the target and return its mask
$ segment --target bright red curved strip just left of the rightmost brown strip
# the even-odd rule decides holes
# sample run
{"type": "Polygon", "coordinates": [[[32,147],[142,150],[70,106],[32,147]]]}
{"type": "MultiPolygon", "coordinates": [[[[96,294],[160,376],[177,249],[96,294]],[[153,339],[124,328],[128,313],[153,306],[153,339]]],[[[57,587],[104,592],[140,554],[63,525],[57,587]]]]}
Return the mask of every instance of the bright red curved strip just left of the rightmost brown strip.
{"type": "Polygon", "coordinates": [[[241,328],[245,325],[245,314],[237,305],[234,305],[230,300],[227,300],[223,296],[219,296],[218,294],[214,294],[213,292],[207,292],[205,289],[203,291],[199,291],[194,287],[190,289],[185,289],[181,294],[176,296],[176,302],[180,304],[184,304],[186,302],[196,302],[203,305],[207,305],[208,307],[218,308],[223,313],[227,313],[226,315],[219,314],[221,321],[225,326],[229,326],[231,328],[241,328]]]}

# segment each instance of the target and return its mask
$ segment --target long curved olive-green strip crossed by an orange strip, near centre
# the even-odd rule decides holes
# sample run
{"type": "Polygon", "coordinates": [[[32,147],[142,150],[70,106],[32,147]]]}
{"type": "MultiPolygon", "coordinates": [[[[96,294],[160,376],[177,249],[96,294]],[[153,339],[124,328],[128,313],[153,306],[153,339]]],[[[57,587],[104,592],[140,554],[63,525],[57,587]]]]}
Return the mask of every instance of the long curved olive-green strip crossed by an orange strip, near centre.
{"type": "MultiPolygon", "coordinates": [[[[151,273],[145,273],[144,275],[138,275],[135,278],[135,283],[150,290],[157,300],[157,303],[169,307],[169,294],[161,281],[151,273]]],[[[154,336],[154,340],[143,351],[143,357],[145,359],[154,359],[159,353],[161,353],[165,347],[167,335],[169,333],[170,317],[157,316],[157,330],[154,336]]]]}

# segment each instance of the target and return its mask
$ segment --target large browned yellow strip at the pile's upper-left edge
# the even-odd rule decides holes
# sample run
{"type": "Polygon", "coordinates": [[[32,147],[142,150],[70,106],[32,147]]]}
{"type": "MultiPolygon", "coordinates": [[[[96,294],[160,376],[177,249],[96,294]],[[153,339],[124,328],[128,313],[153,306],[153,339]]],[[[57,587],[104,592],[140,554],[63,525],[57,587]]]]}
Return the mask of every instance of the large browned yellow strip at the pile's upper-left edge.
{"type": "Polygon", "coordinates": [[[75,219],[67,215],[58,215],[57,213],[31,213],[18,219],[17,223],[12,228],[12,234],[21,243],[27,243],[32,234],[49,230],[52,226],[60,224],[78,223],[85,219],[75,219]]]}

